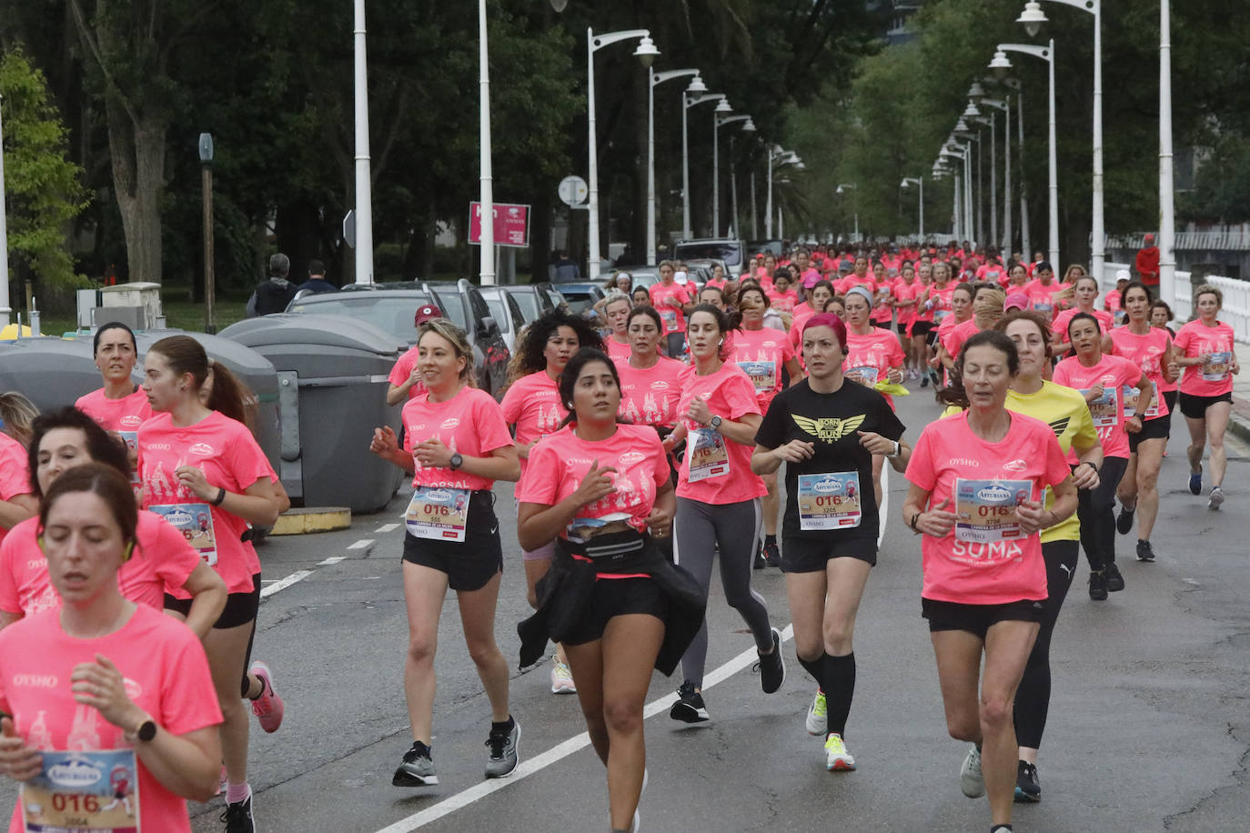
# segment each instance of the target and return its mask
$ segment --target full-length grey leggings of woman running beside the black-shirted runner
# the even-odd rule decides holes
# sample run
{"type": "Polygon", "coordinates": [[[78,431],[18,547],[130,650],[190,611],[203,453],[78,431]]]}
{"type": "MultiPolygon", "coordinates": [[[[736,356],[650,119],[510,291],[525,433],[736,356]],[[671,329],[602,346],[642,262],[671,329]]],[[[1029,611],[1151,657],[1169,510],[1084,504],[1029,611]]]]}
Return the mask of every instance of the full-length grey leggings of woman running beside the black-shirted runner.
{"type": "MultiPolygon", "coordinates": [[[[751,559],[760,537],[760,500],[740,503],[712,505],[690,498],[678,498],[678,515],[672,521],[674,562],[694,574],[702,587],[704,598],[711,587],[711,563],[720,545],[720,584],[725,601],[736,608],[751,628],[755,647],[772,649],[772,628],[764,598],[751,589],[751,559]]],[[[681,657],[681,673],[702,688],[704,666],[708,662],[708,619],[699,628],[686,653],[681,657]]]]}

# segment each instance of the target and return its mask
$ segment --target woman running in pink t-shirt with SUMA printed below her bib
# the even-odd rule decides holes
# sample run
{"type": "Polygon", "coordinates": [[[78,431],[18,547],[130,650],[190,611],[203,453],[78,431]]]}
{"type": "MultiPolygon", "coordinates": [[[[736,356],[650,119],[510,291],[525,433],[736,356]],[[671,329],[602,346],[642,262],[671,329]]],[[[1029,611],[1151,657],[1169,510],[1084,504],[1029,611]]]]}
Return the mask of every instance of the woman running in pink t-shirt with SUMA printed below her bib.
{"type": "Polygon", "coordinates": [[[946,728],[974,743],[960,786],[969,798],[989,793],[992,832],[1005,833],[1019,753],[1012,702],[1046,612],[1038,533],[1071,516],[1076,487],[1052,428],[1005,407],[1020,371],[1010,338],[974,335],[955,370],[944,398],[968,410],[921,432],[902,520],[922,535],[921,609],[946,728]],[[1041,503],[1048,487],[1055,493],[1049,510],[1041,503]]]}

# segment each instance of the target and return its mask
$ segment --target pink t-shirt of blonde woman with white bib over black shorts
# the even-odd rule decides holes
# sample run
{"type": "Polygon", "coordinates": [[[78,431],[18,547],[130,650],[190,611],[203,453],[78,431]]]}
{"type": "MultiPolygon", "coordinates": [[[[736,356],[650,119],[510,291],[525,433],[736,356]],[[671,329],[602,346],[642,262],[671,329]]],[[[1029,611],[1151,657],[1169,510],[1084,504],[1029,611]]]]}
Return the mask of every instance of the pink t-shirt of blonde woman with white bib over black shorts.
{"type": "MultiPolygon", "coordinates": [[[[544,373],[545,375],[545,373],[544,373]]],[[[468,385],[445,402],[431,402],[429,393],[409,400],[404,406],[404,451],[412,453],[415,443],[439,440],[452,453],[489,457],[496,448],[512,445],[504,412],[490,393],[468,385]]],[[[495,481],[465,471],[422,466],[412,457],[412,486],[444,488],[491,488],[495,481]]]]}

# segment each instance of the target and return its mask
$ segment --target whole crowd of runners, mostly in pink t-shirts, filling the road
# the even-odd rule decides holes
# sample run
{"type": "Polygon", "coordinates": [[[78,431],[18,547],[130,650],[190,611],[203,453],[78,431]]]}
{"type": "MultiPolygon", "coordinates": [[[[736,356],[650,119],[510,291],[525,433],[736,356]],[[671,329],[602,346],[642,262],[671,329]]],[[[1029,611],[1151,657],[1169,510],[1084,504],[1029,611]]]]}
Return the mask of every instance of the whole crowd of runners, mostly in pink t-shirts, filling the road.
{"type": "MultiPolygon", "coordinates": [[[[961,789],[988,797],[994,833],[1010,831],[1014,802],[1041,799],[1049,647],[1080,551],[1095,601],[1125,589],[1119,535],[1135,532],[1136,558],[1154,561],[1178,408],[1189,490],[1220,508],[1240,371],[1218,288],[1199,287],[1195,320],[1174,331],[1128,274],[1102,293],[1081,266],[1055,266],[969,244],[798,246],[699,286],[665,261],[650,287],[611,276],[591,317],[534,321],[501,402],[475,387],[466,335],[416,310],[418,343],[388,392],[404,402],[401,430],[379,426],[370,445],[412,476],[412,743],[392,783],[438,783],[434,658],[450,588],[490,704],[485,777],[520,761],[509,668],[554,644],[551,692],[580,702],[610,829],[639,829],[652,671],[680,668],[671,719],[712,719],[718,567],[765,694],[786,679],[786,647],[751,578],[782,571],[811,677],[796,719],[820,738],[821,766],[854,771],[856,613],[892,523],[920,537],[948,729],[969,744],[961,789]],[[924,388],[938,405],[909,428],[895,397],[924,388]],[[909,483],[894,517],[880,515],[886,465],[909,483]],[[496,481],[516,482],[515,530],[498,521],[496,481]],[[534,608],[512,659],[496,643],[514,624],[496,619],[504,541],[524,552],[534,608]]],[[[138,386],[125,326],[100,327],[95,356],[102,387],[74,406],[38,413],[0,397],[0,772],[22,784],[10,829],[141,817],[189,831],[185,799],[221,792],[226,833],[254,833],[248,706],[274,732],[284,703],[251,657],[252,538],[290,502],[252,436],[249,392],[196,341],[158,341],[138,386]],[[99,778],[51,777],[68,767],[99,778]]]]}

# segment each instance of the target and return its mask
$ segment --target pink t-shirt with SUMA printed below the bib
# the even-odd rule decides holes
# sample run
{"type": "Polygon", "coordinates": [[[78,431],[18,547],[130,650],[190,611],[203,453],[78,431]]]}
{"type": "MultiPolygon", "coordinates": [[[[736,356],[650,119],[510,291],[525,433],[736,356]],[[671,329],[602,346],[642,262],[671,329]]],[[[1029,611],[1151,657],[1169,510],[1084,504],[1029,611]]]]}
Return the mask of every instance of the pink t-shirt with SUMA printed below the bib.
{"type": "MultiPolygon", "coordinates": [[[[1041,420],[1011,413],[1011,427],[999,442],[986,442],[968,427],[968,412],[930,422],[920,432],[908,462],[908,480],[929,492],[929,507],[949,500],[955,508],[955,481],[1029,481],[1030,500],[1058,486],[1070,470],[1055,432],[1041,420]]],[[[1005,604],[1046,598],[1046,564],[1038,533],[990,543],[944,538],[920,542],[925,598],[960,604],[1005,604]]]]}

